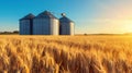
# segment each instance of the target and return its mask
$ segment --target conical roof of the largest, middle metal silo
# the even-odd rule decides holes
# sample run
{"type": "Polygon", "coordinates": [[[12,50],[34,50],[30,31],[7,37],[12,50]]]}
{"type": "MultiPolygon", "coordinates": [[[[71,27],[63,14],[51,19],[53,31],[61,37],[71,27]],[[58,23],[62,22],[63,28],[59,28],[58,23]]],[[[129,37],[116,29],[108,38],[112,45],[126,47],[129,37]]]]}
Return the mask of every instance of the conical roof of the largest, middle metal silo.
{"type": "Polygon", "coordinates": [[[55,17],[51,12],[48,11],[44,11],[42,13],[40,13],[37,16],[35,16],[35,19],[40,19],[40,17],[44,17],[44,19],[57,19],[55,17]]]}

